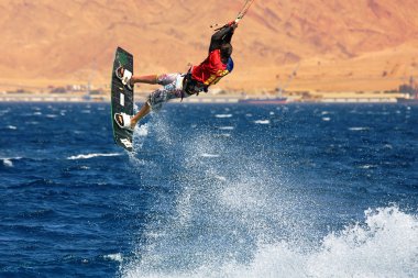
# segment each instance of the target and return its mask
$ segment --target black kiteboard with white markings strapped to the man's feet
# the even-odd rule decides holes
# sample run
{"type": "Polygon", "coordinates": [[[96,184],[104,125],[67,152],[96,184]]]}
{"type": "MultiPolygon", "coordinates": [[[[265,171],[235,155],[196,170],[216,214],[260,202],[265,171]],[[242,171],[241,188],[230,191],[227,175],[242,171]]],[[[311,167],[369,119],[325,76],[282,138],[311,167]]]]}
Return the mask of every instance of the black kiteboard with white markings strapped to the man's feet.
{"type": "Polygon", "coordinates": [[[113,140],[114,143],[124,149],[133,151],[132,136],[133,131],[128,129],[121,129],[114,121],[114,113],[133,114],[133,88],[132,90],[122,84],[117,75],[116,70],[120,66],[133,73],[133,56],[129,52],[117,48],[112,69],[112,81],[110,91],[110,105],[111,105],[111,121],[113,126],[113,140]]]}

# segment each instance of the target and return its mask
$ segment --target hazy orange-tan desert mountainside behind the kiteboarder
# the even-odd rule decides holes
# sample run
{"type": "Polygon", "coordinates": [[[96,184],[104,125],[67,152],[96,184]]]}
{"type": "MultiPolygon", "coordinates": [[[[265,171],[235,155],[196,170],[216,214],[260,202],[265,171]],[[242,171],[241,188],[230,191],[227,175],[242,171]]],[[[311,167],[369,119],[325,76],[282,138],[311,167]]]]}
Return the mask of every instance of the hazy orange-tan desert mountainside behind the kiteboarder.
{"type": "MultiPolygon", "coordinates": [[[[109,85],[117,46],[135,73],[184,71],[241,0],[0,0],[0,87],[109,85]]],[[[255,0],[222,89],[374,91],[418,76],[416,0],[255,0]]]]}

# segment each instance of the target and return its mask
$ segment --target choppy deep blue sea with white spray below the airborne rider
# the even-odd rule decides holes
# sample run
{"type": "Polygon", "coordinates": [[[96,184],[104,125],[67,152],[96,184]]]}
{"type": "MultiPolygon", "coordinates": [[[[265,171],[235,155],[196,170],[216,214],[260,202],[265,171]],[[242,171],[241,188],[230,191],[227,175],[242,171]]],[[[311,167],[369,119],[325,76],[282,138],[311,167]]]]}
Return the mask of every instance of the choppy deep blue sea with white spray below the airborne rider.
{"type": "Polygon", "coordinates": [[[0,103],[0,277],[418,277],[418,107],[0,103]]]}

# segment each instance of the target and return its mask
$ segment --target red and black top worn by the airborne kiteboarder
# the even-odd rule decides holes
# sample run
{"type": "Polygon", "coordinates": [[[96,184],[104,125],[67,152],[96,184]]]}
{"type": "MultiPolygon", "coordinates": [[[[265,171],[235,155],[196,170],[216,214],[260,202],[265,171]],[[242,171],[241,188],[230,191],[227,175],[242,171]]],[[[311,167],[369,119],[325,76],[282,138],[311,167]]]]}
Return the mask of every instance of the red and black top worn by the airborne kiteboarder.
{"type": "Polygon", "coordinates": [[[210,41],[209,56],[199,65],[191,68],[191,78],[206,87],[217,84],[222,77],[233,69],[233,60],[230,57],[227,64],[222,63],[220,47],[223,43],[230,43],[234,29],[226,26],[215,33],[210,41]]]}

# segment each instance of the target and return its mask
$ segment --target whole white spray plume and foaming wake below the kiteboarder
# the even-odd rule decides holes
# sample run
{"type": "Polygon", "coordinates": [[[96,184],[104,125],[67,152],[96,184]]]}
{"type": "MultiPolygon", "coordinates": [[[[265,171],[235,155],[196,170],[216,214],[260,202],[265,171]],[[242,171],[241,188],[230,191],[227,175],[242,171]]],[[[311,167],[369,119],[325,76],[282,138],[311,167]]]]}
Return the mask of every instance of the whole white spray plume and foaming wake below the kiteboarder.
{"type": "MultiPolygon", "coordinates": [[[[166,143],[175,137],[161,129],[166,143]]],[[[323,231],[309,196],[285,187],[273,164],[212,140],[204,131],[177,145],[186,159],[173,213],[146,223],[121,277],[418,277],[417,215],[392,205],[323,231]],[[237,156],[201,159],[224,148],[237,156]]]]}

